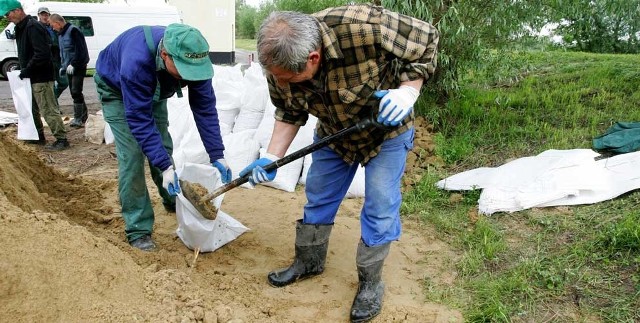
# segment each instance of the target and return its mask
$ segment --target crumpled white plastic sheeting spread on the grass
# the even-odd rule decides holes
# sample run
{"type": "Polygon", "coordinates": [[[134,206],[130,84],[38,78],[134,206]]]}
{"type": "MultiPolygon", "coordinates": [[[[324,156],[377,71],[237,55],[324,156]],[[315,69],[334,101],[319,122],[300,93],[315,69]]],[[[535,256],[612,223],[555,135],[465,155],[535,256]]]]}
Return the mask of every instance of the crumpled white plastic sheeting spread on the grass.
{"type": "Polygon", "coordinates": [[[483,214],[592,204],[640,188],[640,152],[596,160],[598,156],[589,149],[547,150],[499,167],[462,172],[436,185],[482,189],[478,209],[483,214]]]}

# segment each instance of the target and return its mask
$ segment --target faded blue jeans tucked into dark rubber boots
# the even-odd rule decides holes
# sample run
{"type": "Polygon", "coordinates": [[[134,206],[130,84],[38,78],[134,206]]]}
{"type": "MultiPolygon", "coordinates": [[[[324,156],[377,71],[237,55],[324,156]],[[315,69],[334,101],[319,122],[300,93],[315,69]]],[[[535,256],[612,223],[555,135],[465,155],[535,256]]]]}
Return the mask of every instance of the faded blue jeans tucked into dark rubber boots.
{"type": "MultiPolygon", "coordinates": [[[[365,198],[360,212],[362,241],[370,247],[398,240],[402,232],[401,179],[407,153],[413,148],[414,129],[382,143],[380,153],[365,165],[365,198]]],[[[318,140],[318,138],[314,138],[318,140]]],[[[304,224],[332,224],[353,181],[358,164],[348,164],[331,148],[312,153],[307,174],[304,224]]]]}

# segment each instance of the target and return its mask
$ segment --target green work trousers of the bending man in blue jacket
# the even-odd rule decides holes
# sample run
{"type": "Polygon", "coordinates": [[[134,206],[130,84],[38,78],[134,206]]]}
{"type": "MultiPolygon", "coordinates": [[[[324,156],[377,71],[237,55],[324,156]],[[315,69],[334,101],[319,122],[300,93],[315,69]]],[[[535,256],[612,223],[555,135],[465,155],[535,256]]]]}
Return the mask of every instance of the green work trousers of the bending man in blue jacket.
{"type": "MultiPolygon", "coordinates": [[[[98,74],[95,74],[94,80],[102,103],[104,120],[111,127],[115,138],[118,156],[118,194],[125,233],[131,242],[153,232],[154,214],[144,174],[145,159],[149,164],[151,178],[162,197],[162,203],[175,205],[175,197],[170,196],[162,187],[162,170],[151,165],[142,153],[138,141],[131,134],[124,115],[122,93],[104,83],[98,74]]],[[[162,144],[171,155],[173,142],[168,130],[167,100],[153,101],[153,118],[162,136],[162,144]]]]}

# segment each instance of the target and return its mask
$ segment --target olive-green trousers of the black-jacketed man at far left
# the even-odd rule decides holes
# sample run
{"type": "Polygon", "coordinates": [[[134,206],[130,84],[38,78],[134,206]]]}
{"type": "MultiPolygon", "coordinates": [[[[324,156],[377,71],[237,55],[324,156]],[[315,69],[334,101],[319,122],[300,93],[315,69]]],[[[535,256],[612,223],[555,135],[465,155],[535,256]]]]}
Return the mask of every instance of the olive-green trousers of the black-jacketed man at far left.
{"type": "Polygon", "coordinates": [[[33,93],[31,113],[38,133],[44,133],[44,125],[40,119],[40,115],[42,115],[56,139],[67,139],[67,130],[62,122],[60,107],[55,94],[53,94],[53,81],[31,84],[31,93],[33,93]]]}

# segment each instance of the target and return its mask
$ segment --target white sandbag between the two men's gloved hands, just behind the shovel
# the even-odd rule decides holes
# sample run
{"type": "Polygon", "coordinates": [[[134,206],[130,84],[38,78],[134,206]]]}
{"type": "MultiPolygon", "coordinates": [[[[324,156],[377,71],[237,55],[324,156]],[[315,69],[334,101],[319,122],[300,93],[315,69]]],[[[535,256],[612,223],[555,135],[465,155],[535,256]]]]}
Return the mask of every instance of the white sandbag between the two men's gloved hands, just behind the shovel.
{"type": "MultiPolygon", "coordinates": [[[[238,174],[245,167],[258,159],[260,144],[253,139],[255,132],[255,130],[245,130],[222,137],[225,147],[224,158],[229,164],[233,179],[238,178],[238,174]]],[[[241,187],[253,188],[249,183],[242,184],[241,187]]]]}

